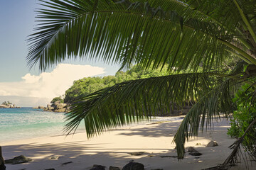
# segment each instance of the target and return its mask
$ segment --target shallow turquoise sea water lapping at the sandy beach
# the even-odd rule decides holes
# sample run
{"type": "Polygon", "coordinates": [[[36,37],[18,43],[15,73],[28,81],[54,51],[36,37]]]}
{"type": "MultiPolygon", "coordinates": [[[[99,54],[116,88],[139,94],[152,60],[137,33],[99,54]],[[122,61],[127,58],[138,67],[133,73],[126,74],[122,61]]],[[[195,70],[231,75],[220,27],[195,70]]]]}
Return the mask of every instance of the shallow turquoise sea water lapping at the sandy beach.
{"type": "MultiPolygon", "coordinates": [[[[0,108],[0,142],[63,135],[65,113],[46,112],[33,108],[0,108]]],[[[152,121],[176,120],[176,117],[158,117],[152,121]]],[[[147,121],[139,123],[144,124],[147,121]]],[[[137,124],[136,124],[137,125],[137,124]]],[[[85,132],[82,121],[77,132],[85,132]]]]}

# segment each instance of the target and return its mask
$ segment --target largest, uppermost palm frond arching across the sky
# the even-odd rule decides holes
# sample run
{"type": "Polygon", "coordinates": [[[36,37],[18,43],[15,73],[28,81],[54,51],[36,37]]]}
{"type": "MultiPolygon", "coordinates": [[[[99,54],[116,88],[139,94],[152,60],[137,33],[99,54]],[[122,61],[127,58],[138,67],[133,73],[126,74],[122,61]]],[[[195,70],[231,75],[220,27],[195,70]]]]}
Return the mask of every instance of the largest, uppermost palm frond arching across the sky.
{"type": "Polygon", "coordinates": [[[220,29],[218,22],[208,21],[205,8],[189,8],[184,3],[43,1],[47,9],[37,11],[40,24],[28,39],[28,64],[32,67],[39,62],[41,69],[47,69],[65,59],[81,57],[121,67],[139,63],[156,68],[168,63],[170,71],[191,66],[196,71],[201,63],[205,70],[217,68],[228,50],[255,62],[231,43],[235,38],[231,28],[220,29]]]}

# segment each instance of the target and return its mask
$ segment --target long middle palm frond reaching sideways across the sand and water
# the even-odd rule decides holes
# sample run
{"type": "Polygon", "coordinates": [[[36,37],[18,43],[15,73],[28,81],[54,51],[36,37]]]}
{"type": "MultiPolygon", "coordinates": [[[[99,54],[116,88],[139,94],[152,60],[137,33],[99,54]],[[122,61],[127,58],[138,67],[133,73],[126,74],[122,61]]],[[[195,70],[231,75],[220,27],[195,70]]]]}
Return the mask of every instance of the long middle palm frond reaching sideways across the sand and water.
{"type": "Polygon", "coordinates": [[[217,73],[175,74],[124,81],[96,91],[75,103],[67,113],[65,130],[75,130],[82,120],[88,137],[151,116],[168,113],[174,103],[183,106],[195,102],[202,91],[208,91],[217,73]]]}

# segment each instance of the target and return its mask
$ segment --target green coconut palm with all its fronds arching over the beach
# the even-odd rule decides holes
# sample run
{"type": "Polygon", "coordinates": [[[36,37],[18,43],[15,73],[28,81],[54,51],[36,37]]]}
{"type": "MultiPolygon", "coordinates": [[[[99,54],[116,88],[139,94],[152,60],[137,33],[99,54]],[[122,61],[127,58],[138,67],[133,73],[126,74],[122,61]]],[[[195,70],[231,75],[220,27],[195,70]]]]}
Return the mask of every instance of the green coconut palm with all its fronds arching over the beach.
{"type": "Polygon", "coordinates": [[[36,32],[28,39],[29,67],[38,63],[44,70],[73,58],[119,64],[120,69],[169,65],[169,76],[125,81],[81,98],[67,115],[68,132],[84,120],[92,137],[168,112],[174,103],[193,103],[174,138],[183,158],[189,137],[220,113],[233,111],[235,87],[255,86],[255,0],[41,2],[36,32]],[[238,62],[223,70],[230,61],[238,62]]]}

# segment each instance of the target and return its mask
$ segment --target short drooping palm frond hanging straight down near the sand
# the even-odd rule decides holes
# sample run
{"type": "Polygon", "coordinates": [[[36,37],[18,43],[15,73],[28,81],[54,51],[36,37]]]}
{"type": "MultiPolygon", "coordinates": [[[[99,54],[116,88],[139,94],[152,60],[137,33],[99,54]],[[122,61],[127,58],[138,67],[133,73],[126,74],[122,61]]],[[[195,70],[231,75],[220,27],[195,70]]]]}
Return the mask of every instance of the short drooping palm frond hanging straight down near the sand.
{"type": "Polygon", "coordinates": [[[174,137],[178,158],[184,157],[184,144],[189,137],[197,136],[199,130],[203,131],[205,126],[208,128],[213,119],[220,118],[220,113],[232,113],[235,107],[230,96],[230,88],[234,84],[235,81],[230,78],[220,81],[207,94],[201,96],[186,114],[174,137]]]}

